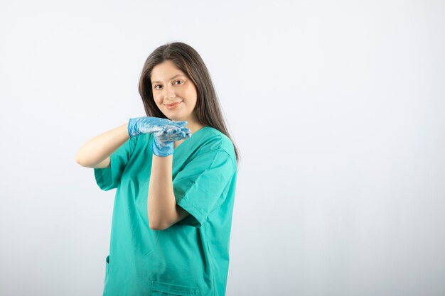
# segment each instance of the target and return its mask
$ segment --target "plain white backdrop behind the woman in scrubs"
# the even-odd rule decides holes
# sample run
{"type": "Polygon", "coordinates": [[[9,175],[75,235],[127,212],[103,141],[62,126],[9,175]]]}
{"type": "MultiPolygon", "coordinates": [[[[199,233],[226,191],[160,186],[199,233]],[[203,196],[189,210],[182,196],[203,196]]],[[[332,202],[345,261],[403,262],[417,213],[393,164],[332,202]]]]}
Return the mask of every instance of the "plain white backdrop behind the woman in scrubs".
{"type": "Polygon", "coordinates": [[[227,296],[445,295],[444,1],[1,1],[0,295],[102,295],[83,143],[181,41],[240,148],[227,296]]]}

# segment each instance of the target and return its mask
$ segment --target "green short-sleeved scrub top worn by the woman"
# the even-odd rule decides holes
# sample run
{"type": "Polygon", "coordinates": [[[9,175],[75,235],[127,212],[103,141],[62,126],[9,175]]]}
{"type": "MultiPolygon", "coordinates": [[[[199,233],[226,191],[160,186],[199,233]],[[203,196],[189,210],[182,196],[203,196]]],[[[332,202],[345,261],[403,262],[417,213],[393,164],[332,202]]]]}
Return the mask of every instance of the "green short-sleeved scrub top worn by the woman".
{"type": "Polygon", "coordinates": [[[168,229],[149,227],[153,135],[129,138],[95,168],[102,190],[117,188],[105,296],[225,295],[237,163],[230,138],[204,126],[174,149],[176,204],[188,213],[168,229]]]}

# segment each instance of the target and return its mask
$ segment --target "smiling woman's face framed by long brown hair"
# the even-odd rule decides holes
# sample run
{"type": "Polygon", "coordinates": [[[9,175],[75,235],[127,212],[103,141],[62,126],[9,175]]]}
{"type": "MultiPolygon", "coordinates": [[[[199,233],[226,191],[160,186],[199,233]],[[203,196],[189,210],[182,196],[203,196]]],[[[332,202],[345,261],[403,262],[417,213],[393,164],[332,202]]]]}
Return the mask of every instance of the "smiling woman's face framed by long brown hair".
{"type": "Polygon", "coordinates": [[[151,70],[151,89],[154,102],[170,120],[188,123],[195,121],[195,105],[198,98],[195,84],[179,70],[171,60],[156,65],[151,70]],[[169,106],[169,104],[174,104],[169,106]]]}

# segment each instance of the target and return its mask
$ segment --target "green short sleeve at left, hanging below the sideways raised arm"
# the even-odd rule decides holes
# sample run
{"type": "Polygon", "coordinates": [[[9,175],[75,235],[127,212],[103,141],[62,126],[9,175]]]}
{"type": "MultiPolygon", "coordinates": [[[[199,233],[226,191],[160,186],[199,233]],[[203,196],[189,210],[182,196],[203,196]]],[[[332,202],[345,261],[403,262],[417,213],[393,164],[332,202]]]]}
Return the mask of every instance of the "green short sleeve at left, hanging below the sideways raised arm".
{"type": "Polygon", "coordinates": [[[119,186],[125,166],[136,146],[137,136],[129,138],[117,150],[109,155],[108,168],[95,168],[96,183],[102,190],[111,190],[119,186]]]}

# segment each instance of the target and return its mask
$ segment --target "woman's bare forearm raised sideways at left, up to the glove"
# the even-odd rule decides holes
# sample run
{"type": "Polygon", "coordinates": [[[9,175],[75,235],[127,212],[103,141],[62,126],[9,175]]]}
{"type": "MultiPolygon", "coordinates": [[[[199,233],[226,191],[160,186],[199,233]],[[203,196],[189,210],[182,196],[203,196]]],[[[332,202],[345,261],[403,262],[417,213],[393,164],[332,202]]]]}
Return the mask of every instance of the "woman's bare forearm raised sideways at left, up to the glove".
{"type": "Polygon", "coordinates": [[[100,134],[87,141],[76,155],[76,163],[91,167],[109,157],[117,148],[129,139],[128,123],[100,134]]]}

